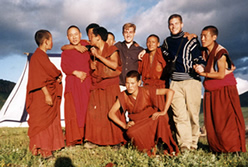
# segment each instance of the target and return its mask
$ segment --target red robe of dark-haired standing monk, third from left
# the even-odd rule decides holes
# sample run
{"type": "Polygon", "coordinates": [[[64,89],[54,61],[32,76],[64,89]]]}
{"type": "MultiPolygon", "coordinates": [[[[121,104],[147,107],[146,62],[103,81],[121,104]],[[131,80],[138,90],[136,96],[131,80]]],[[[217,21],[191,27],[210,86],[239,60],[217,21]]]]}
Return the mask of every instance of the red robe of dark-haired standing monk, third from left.
{"type": "MultiPolygon", "coordinates": [[[[101,56],[109,59],[114,52],[118,52],[115,46],[105,44],[101,56]]],[[[98,59],[96,61],[96,69],[92,70],[85,140],[98,145],[116,145],[125,142],[125,140],[122,130],[108,118],[108,112],[120,93],[120,58],[117,70],[108,68],[98,59]]],[[[119,114],[118,117],[123,121],[125,120],[124,114],[119,114]]]]}

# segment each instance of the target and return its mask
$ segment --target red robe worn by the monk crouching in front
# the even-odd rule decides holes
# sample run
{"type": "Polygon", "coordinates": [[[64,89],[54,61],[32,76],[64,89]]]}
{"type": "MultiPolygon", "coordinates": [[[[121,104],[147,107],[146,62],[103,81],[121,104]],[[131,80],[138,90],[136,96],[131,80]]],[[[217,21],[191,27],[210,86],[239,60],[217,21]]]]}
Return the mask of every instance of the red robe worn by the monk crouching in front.
{"type": "Polygon", "coordinates": [[[152,114],[158,111],[158,106],[155,105],[155,88],[139,87],[136,100],[128,95],[127,91],[122,92],[118,98],[123,110],[127,110],[129,118],[135,122],[126,134],[138,150],[149,151],[161,139],[166,145],[165,152],[169,154],[179,152],[168,126],[168,115],[160,116],[156,120],[151,118],[152,114]]]}

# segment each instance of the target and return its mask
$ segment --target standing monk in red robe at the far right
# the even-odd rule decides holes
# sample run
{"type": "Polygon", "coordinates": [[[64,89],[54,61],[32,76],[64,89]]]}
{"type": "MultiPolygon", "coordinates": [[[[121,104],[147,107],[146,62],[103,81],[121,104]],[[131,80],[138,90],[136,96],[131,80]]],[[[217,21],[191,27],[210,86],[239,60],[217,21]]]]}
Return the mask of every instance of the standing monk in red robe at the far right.
{"type": "Polygon", "coordinates": [[[210,149],[213,152],[246,152],[245,123],[240,107],[235,69],[227,50],[216,42],[218,29],[206,26],[201,33],[204,71],[197,65],[196,72],[204,80],[204,123],[210,149]]]}

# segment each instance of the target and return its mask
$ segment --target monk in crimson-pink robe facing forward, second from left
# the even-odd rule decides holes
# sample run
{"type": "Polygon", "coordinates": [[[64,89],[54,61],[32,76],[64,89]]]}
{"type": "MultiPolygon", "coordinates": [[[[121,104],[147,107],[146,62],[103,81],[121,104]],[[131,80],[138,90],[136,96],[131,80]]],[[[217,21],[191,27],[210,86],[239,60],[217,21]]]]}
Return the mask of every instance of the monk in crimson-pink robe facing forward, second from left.
{"type": "MultiPolygon", "coordinates": [[[[75,25],[67,29],[67,38],[72,46],[86,46],[81,40],[82,34],[75,25]]],[[[89,67],[90,54],[76,49],[65,50],[61,54],[61,68],[66,74],[65,85],[65,136],[66,145],[82,144],[85,118],[89,102],[91,77],[89,67]]]]}

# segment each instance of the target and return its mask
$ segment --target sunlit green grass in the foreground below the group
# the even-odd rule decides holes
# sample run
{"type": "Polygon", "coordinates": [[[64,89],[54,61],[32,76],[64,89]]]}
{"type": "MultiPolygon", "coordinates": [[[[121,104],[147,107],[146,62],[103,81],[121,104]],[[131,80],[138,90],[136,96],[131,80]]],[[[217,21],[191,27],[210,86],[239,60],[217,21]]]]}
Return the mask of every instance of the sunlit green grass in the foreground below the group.
{"type": "Polygon", "coordinates": [[[111,147],[85,149],[78,145],[66,147],[54,153],[55,159],[44,160],[32,156],[28,150],[27,128],[0,128],[0,167],[5,166],[248,166],[248,154],[213,154],[209,152],[206,138],[200,138],[199,149],[178,156],[165,156],[159,153],[148,157],[132,146],[122,146],[119,150],[111,147]]]}

